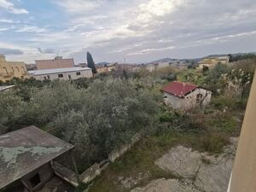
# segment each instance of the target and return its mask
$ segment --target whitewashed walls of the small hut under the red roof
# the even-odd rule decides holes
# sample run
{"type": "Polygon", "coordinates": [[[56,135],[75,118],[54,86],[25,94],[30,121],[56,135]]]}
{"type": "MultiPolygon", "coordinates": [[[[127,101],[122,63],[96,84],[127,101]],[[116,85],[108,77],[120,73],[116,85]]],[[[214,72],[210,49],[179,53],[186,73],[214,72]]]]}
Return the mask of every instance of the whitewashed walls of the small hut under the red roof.
{"type": "Polygon", "coordinates": [[[166,104],[170,105],[172,108],[188,110],[190,108],[195,108],[200,105],[201,102],[196,101],[198,94],[202,95],[201,97],[201,100],[203,100],[202,106],[206,106],[211,101],[211,96],[212,96],[211,91],[201,89],[201,88],[195,89],[192,93],[190,93],[187,96],[184,96],[183,98],[173,96],[172,94],[164,92],[164,96],[165,96],[164,100],[166,104]]]}

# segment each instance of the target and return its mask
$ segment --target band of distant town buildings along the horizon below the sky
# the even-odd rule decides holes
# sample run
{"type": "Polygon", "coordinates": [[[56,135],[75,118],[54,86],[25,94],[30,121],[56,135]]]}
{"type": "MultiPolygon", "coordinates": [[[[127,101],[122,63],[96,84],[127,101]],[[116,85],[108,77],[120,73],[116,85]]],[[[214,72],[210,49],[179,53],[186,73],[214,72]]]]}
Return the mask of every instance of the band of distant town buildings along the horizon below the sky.
{"type": "MultiPolygon", "coordinates": [[[[241,54],[242,55],[242,54],[241,54]]],[[[227,64],[231,55],[208,55],[201,59],[160,59],[146,64],[128,63],[108,63],[100,62],[95,64],[96,73],[110,73],[111,71],[122,68],[129,71],[136,71],[145,68],[149,72],[163,67],[174,67],[184,69],[188,67],[214,67],[218,63],[227,64]]],[[[6,82],[13,78],[27,79],[34,78],[39,80],[46,79],[79,79],[91,78],[92,69],[87,63],[74,64],[73,58],[63,58],[55,56],[49,60],[36,60],[35,64],[26,64],[23,61],[6,61],[4,55],[0,55],[0,81],[6,82]]]]}

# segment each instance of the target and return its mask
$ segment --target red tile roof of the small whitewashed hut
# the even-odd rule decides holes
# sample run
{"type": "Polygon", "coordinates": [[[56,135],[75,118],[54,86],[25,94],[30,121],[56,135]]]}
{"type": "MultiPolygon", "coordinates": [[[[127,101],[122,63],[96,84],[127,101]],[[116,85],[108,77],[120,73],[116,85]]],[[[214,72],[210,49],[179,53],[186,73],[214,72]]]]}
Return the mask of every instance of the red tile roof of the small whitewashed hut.
{"type": "Polygon", "coordinates": [[[173,81],[170,84],[166,84],[166,86],[164,86],[162,90],[166,93],[172,94],[173,96],[182,98],[183,96],[186,96],[198,87],[199,86],[195,84],[185,84],[183,82],[173,81]]]}

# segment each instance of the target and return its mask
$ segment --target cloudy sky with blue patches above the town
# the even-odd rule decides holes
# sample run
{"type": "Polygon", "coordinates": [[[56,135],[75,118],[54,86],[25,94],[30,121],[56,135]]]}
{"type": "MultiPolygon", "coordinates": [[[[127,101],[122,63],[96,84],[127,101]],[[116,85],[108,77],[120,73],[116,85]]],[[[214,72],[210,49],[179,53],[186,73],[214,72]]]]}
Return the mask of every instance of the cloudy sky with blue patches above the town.
{"type": "Polygon", "coordinates": [[[141,63],[256,51],[255,0],[0,0],[0,54],[141,63]]]}

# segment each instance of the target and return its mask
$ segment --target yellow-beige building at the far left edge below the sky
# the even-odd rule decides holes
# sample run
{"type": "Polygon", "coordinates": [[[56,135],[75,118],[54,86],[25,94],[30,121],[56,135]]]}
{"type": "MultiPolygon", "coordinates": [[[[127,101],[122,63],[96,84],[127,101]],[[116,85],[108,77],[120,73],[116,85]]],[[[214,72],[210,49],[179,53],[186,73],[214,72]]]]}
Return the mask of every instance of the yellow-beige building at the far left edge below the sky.
{"type": "Polygon", "coordinates": [[[27,78],[26,64],[22,61],[6,61],[4,55],[0,55],[0,80],[6,82],[13,78],[27,78]]]}

